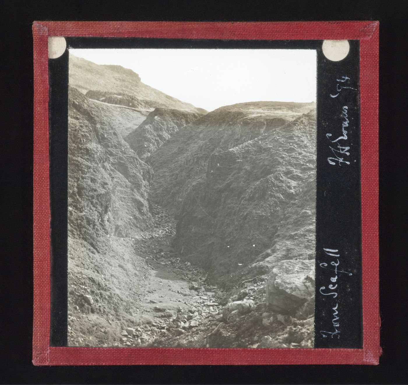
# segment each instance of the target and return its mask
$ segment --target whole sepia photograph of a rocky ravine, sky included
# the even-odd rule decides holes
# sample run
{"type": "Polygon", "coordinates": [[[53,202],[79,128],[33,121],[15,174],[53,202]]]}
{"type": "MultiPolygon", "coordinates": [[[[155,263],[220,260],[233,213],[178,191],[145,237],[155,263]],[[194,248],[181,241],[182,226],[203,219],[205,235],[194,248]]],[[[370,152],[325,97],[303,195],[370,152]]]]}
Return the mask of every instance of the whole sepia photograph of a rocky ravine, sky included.
{"type": "Polygon", "coordinates": [[[313,348],[316,51],[69,49],[68,345],[313,348]]]}

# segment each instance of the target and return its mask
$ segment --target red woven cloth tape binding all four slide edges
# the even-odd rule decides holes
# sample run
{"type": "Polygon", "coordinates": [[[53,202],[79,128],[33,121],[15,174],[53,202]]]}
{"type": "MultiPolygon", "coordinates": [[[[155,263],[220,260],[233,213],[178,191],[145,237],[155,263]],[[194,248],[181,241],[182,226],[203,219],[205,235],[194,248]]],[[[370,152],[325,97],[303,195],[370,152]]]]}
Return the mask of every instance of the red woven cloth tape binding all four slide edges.
{"type": "Polygon", "coordinates": [[[377,365],[379,22],[34,22],[34,365],[377,365]],[[50,347],[48,37],[360,40],[363,349],[50,347]]]}

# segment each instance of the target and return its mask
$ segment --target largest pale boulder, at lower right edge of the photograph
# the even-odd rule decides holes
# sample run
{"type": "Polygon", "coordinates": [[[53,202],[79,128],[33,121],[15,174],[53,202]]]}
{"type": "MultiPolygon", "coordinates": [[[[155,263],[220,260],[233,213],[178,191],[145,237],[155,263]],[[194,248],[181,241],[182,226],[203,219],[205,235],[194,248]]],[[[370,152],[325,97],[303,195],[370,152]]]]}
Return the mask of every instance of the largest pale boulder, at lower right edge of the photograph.
{"type": "Polygon", "coordinates": [[[315,292],[315,261],[281,261],[266,282],[266,303],[281,314],[295,312],[315,292]]]}

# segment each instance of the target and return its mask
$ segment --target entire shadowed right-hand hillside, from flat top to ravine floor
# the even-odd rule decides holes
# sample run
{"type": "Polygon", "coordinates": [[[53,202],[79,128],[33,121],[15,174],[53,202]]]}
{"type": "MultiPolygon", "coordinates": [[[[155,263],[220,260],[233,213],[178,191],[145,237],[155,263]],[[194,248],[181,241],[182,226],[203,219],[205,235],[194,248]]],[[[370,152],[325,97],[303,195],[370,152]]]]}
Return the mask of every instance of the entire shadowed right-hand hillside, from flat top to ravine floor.
{"type": "Polygon", "coordinates": [[[182,258],[225,285],[313,259],[315,131],[314,104],[238,104],[153,153],[151,198],[178,219],[182,258]]]}

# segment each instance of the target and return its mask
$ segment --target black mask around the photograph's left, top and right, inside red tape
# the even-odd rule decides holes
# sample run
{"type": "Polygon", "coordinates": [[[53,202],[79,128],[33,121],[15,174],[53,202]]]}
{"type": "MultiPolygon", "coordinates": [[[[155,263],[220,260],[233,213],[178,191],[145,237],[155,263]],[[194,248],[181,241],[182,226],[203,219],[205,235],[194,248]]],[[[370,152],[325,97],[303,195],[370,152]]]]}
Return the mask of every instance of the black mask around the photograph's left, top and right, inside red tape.
{"type": "MultiPolygon", "coordinates": [[[[361,348],[361,216],[359,151],[359,42],[350,40],[344,60],[325,58],[321,40],[182,40],[130,38],[67,38],[69,48],[219,48],[219,49],[315,49],[317,52],[317,210],[316,210],[316,300],[315,347],[361,348]],[[350,86],[335,98],[338,78],[346,74],[350,86]],[[326,137],[341,135],[341,106],[348,106],[349,164],[328,164],[331,144],[326,137]],[[337,246],[336,246],[337,245],[337,246]],[[339,270],[352,271],[351,277],[339,273],[338,298],[320,294],[330,284],[333,271],[322,269],[327,260],[324,247],[340,249],[339,270]],[[332,307],[338,304],[339,336],[323,338],[320,331],[334,331],[332,307]]],[[[67,345],[67,263],[68,263],[68,50],[49,60],[50,85],[50,198],[51,198],[51,346],[67,345]]],[[[341,83],[340,83],[341,84],[341,83]]],[[[343,84],[346,85],[346,84],[343,84]]],[[[333,258],[332,258],[333,259],[333,258]]],[[[330,261],[332,260],[330,259],[330,261]]],[[[328,263],[330,264],[330,261],[328,263]]],[[[328,289],[327,289],[328,290],[328,289]]]]}

